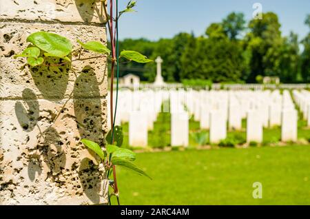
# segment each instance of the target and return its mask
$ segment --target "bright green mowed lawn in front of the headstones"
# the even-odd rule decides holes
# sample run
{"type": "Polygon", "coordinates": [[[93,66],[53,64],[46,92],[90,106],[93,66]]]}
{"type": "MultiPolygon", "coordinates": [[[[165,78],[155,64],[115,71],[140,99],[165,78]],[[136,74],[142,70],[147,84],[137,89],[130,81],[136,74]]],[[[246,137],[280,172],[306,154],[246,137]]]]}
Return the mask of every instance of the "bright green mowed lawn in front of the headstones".
{"type": "Polygon", "coordinates": [[[310,205],[310,146],[143,153],[135,163],[153,180],[118,168],[122,205],[310,205]]]}

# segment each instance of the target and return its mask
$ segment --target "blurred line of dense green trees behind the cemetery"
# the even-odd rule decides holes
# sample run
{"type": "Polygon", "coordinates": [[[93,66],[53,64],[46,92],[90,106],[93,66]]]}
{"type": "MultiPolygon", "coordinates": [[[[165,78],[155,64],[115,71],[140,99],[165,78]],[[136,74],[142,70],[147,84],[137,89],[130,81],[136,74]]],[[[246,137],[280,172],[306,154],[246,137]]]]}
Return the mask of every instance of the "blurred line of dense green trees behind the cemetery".
{"type": "MultiPolygon", "coordinates": [[[[172,39],[149,41],[124,39],[120,50],[161,56],[167,82],[208,80],[215,83],[256,83],[262,76],[278,76],[282,83],[310,82],[310,14],[304,21],[304,39],[291,32],[282,36],[277,14],[267,12],[248,23],[242,13],[232,12],[220,23],[211,23],[203,36],[180,33],[172,39]]],[[[152,82],[154,63],[120,63],[120,76],[136,74],[152,82]]]]}

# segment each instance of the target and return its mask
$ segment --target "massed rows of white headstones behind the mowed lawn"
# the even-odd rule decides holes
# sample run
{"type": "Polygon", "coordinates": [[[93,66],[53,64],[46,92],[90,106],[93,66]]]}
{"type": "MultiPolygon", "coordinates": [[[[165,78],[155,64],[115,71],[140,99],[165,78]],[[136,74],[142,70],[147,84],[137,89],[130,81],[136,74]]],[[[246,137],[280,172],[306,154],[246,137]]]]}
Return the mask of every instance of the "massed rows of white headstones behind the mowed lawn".
{"type": "MultiPolygon", "coordinates": [[[[296,103],[305,110],[308,109],[304,105],[309,103],[305,101],[309,100],[309,92],[294,91],[293,96],[296,103]]],[[[107,101],[108,106],[109,102],[107,101]]],[[[210,143],[224,140],[229,130],[242,130],[243,119],[247,120],[248,143],[252,141],[261,143],[264,127],[275,125],[281,126],[283,141],[297,140],[298,113],[288,91],[280,94],[279,90],[273,92],[125,90],[118,94],[116,125],[129,123],[130,145],[145,147],[147,133],[153,129],[159,112],[171,113],[172,146],[186,147],[189,144],[191,116],[200,123],[200,129],[209,129],[210,143]]],[[[107,116],[110,117],[109,112],[107,116]]]]}

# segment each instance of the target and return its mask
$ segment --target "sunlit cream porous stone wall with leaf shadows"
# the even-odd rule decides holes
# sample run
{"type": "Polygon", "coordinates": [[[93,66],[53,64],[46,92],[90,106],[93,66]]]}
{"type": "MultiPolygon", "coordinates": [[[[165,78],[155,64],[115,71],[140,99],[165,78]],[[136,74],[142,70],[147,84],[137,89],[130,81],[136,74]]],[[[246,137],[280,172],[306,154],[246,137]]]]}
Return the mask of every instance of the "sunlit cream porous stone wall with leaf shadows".
{"type": "Polygon", "coordinates": [[[81,143],[103,146],[107,61],[30,68],[13,59],[39,30],[66,36],[75,48],[77,39],[106,43],[102,11],[96,0],[1,0],[0,205],[107,202],[105,169],[81,143]]]}

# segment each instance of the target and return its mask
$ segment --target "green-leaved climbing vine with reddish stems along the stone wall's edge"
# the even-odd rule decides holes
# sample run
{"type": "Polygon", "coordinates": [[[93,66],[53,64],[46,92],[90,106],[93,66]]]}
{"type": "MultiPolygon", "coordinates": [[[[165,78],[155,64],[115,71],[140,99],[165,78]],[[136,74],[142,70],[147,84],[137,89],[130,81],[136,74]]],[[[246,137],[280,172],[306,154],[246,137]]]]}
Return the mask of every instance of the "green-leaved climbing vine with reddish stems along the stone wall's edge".
{"type": "MultiPolygon", "coordinates": [[[[105,149],[102,149],[99,143],[95,143],[91,140],[82,139],[81,142],[94,151],[100,160],[100,163],[104,165],[107,170],[107,180],[109,180],[109,185],[112,187],[113,192],[108,193],[109,204],[111,205],[110,197],[116,196],[118,205],[119,192],[116,181],[116,168],[115,166],[125,167],[135,171],[141,176],[147,176],[150,178],[145,171],[136,167],[134,160],[136,160],[136,154],[130,149],[121,148],[123,144],[123,129],[121,126],[116,126],[114,121],[116,118],[117,110],[117,98],[118,98],[118,64],[121,59],[126,59],[127,61],[135,61],[137,63],[148,63],[152,60],[147,59],[143,54],[131,51],[123,50],[119,52],[118,48],[118,20],[119,18],[127,13],[133,12],[134,6],[136,6],[136,1],[129,1],[127,7],[118,12],[118,0],[115,2],[110,0],[110,14],[107,13],[107,0],[101,1],[101,6],[105,12],[105,19],[107,23],[107,29],[110,34],[111,50],[107,48],[106,45],[100,41],[88,41],[82,42],[77,40],[79,43],[79,48],[74,48],[72,42],[61,36],[59,34],[54,34],[52,32],[39,31],[30,34],[27,38],[27,42],[30,43],[28,48],[25,48],[21,54],[14,56],[15,59],[18,57],[24,57],[27,59],[27,63],[30,67],[36,67],[38,65],[43,66],[62,66],[74,63],[76,61],[85,61],[90,59],[101,59],[105,58],[110,61],[111,72],[111,87],[110,87],[110,118],[112,129],[108,132],[105,138],[105,149]],[[115,6],[115,8],[114,8],[115,6]],[[116,17],[113,17],[113,12],[116,11],[116,17]],[[96,56],[84,56],[85,52],[94,52],[96,56]],[[74,58],[73,58],[74,57],[74,58]],[[56,58],[56,62],[50,62],[50,58],[56,58]],[[114,74],[116,67],[116,105],[115,110],[113,106],[113,92],[114,92],[114,74]],[[113,173],[113,179],[110,179],[110,173],[113,173]]],[[[76,74],[74,68],[70,65],[70,70],[76,74]]]]}

